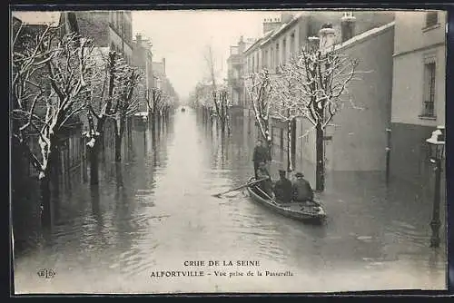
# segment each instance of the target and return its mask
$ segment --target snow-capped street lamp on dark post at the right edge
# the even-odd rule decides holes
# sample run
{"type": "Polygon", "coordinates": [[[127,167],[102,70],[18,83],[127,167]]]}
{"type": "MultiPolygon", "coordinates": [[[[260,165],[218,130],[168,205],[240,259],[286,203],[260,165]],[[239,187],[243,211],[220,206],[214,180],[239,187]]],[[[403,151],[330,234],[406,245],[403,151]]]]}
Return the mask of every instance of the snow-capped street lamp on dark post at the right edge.
{"type": "Polygon", "coordinates": [[[430,247],[439,247],[439,227],[441,226],[439,220],[439,202],[441,191],[440,177],[441,177],[441,162],[445,152],[445,127],[438,126],[432,136],[426,140],[429,143],[429,157],[430,162],[435,164],[435,188],[433,199],[432,220],[430,221],[430,228],[432,229],[432,237],[430,238],[430,247]]]}

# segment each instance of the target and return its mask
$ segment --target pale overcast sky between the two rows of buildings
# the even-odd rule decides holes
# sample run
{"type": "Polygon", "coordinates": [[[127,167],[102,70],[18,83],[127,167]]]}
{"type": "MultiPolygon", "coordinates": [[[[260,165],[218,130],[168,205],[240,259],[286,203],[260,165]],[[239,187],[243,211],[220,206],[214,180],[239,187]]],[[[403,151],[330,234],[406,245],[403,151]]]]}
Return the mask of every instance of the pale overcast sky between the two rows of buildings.
{"type": "Polygon", "coordinates": [[[227,72],[230,45],[240,36],[258,37],[262,20],[279,16],[276,11],[135,11],[133,36],[152,40],[153,61],[165,57],[166,73],[182,99],[208,75],[203,54],[212,45],[217,69],[227,72]]]}

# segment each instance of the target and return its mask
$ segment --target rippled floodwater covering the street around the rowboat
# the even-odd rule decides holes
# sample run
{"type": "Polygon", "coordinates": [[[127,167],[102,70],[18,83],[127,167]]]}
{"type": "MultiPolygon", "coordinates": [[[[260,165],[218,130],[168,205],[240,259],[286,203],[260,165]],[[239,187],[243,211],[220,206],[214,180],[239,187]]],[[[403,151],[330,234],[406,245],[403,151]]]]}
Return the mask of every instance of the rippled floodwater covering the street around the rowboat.
{"type": "Polygon", "coordinates": [[[62,196],[52,230],[15,258],[16,293],[446,288],[445,246],[429,248],[431,200],[386,190],[374,173],[333,175],[320,196],[328,220],[303,224],[244,191],[212,197],[251,174],[242,127],[222,142],[188,109],[151,142],[134,132],[133,155],[107,161],[99,188],[62,196]]]}

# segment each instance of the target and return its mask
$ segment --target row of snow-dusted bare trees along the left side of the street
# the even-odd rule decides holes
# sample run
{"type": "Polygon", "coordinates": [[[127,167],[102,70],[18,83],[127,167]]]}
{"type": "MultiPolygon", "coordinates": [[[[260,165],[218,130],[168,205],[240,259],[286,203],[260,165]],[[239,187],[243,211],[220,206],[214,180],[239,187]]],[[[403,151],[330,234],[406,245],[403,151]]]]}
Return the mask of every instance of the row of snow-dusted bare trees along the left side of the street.
{"type": "Polygon", "coordinates": [[[115,161],[128,117],[138,110],[142,72],[121,54],[94,47],[58,27],[36,29],[15,20],[12,44],[12,121],[15,146],[38,171],[43,220],[50,214],[50,177],[69,122],[84,121],[91,183],[98,183],[104,126],[114,123],[115,161]],[[17,22],[17,23],[16,23],[17,22]],[[37,136],[38,148],[32,139],[37,136]]]}

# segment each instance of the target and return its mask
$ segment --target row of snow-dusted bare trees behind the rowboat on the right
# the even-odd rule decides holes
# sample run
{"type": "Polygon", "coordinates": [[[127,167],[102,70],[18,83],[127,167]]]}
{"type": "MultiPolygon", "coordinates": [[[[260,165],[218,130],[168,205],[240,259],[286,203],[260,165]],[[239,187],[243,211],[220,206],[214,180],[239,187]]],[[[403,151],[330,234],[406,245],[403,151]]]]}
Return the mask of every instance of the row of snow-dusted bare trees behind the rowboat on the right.
{"type": "Polygon", "coordinates": [[[304,46],[276,72],[262,69],[246,79],[249,101],[262,138],[271,148],[271,119],[287,122],[288,171],[294,170],[291,135],[295,119],[311,122],[315,129],[316,189],[324,190],[324,135],[334,115],[350,102],[348,83],[356,79],[359,62],[335,46],[304,46]]]}

